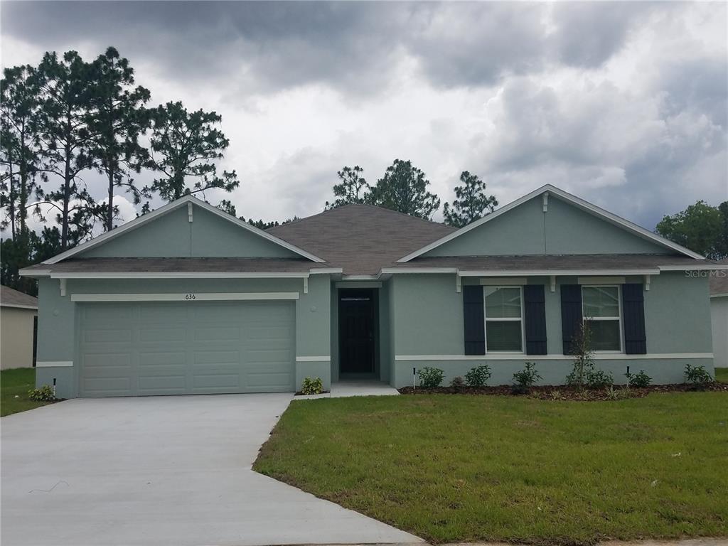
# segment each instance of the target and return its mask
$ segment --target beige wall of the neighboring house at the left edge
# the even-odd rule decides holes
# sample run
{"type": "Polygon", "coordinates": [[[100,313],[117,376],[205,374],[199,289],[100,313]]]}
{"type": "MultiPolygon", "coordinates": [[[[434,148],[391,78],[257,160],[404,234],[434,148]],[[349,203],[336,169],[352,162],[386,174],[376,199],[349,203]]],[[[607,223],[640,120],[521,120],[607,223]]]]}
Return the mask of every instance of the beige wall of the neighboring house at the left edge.
{"type": "Polygon", "coordinates": [[[0,307],[0,369],[33,366],[35,309],[0,307]]]}

